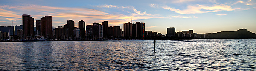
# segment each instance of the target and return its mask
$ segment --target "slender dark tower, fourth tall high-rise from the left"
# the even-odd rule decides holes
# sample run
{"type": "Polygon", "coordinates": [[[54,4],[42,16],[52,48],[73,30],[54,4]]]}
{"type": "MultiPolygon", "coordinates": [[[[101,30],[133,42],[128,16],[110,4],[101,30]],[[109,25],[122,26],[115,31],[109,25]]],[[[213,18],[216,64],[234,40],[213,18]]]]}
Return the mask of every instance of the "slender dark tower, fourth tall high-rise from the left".
{"type": "Polygon", "coordinates": [[[80,29],[81,38],[85,37],[85,22],[83,20],[78,22],[78,28],[80,29]]]}

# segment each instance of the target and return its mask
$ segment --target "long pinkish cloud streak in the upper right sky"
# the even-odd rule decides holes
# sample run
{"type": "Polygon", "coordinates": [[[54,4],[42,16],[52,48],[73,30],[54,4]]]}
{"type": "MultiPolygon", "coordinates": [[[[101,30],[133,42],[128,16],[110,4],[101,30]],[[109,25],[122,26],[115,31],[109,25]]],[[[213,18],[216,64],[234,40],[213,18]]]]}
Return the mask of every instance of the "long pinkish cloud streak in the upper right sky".
{"type": "Polygon", "coordinates": [[[180,10],[180,9],[175,9],[171,8],[169,6],[163,6],[163,9],[167,9],[170,11],[174,11],[179,14],[201,14],[201,13],[208,13],[208,12],[217,12],[217,11],[233,11],[230,6],[227,5],[214,5],[214,6],[204,6],[204,5],[199,5],[197,6],[187,6],[187,9],[180,10]],[[201,11],[201,9],[209,10],[209,11],[201,11]]]}

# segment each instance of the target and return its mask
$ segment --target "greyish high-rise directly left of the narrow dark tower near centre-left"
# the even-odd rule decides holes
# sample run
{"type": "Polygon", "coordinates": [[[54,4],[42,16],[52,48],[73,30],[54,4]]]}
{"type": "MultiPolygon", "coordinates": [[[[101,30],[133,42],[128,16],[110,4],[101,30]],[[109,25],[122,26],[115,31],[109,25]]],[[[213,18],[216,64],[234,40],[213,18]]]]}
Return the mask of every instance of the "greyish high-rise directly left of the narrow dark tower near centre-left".
{"type": "Polygon", "coordinates": [[[93,37],[103,37],[103,26],[99,23],[93,23],[93,37]]]}

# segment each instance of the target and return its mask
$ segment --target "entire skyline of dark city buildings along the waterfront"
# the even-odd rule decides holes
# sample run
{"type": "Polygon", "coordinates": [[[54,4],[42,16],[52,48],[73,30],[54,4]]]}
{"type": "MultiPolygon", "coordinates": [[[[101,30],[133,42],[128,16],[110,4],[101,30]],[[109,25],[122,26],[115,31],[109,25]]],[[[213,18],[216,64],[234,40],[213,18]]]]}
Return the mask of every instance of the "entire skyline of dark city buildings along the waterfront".
{"type": "Polygon", "coordinates": [[[34,18],[23,14],[22,26],[10,26],[8,27],[9,32],[8,30],[7,32],[0,30],[0,39],[36,39],[40,37],[57,40],[152,39],[156,37],[209,38],[209,35],[196,35],[193,30],[175,32],[175,27],[167,28],[167,34],[164,36],[161,33],[145,31],[145,22],[123,23],[123,29],[120,26],[108,26],[108,21],[103,21],[102,24],[92,24],[86,26],[86,22],[80,20],[77,28],[75,21],[67,20],[67,24],[64,26],[52,28],[52,16],[44,16],[40,20],[36,20],[36,27],[34,28],[34,18]]]}

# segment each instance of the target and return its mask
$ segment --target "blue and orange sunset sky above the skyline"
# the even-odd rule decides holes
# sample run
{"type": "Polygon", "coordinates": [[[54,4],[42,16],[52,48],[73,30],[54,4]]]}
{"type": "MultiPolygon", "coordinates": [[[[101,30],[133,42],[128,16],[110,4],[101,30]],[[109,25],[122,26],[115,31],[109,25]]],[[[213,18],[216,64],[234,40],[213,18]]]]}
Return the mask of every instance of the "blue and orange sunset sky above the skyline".
{"type": "MultiPolygon", "coordinates": [[[[0,0],[0,26],[22,25],[22,14],[34,20],[52,16],[52,26],[67,20],[86,25],[108,21],[108,26],[145,22],[145,30],[216,33],[246,28],[256,33],[256,0],[0,0]]],[[[34,23],[35,24],[35,23],[34,23]]]]}

